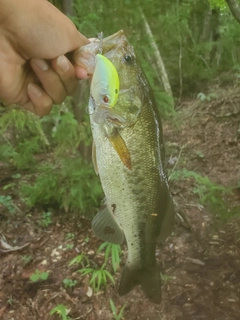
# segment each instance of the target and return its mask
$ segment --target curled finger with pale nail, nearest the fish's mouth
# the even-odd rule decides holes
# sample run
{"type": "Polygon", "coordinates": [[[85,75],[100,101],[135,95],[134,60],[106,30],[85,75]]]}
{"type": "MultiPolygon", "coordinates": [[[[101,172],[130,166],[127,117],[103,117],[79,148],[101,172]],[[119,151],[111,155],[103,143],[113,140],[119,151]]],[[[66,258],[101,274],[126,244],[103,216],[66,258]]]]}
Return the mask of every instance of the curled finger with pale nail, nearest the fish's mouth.
{"type": "Polygon", "coordinates": [[[71,62],[64,55],[61,55],[58,58],[53,59],[51,65],[61,79],[67,95],[73,94],[77,87],[78,80],[71,62]]]}

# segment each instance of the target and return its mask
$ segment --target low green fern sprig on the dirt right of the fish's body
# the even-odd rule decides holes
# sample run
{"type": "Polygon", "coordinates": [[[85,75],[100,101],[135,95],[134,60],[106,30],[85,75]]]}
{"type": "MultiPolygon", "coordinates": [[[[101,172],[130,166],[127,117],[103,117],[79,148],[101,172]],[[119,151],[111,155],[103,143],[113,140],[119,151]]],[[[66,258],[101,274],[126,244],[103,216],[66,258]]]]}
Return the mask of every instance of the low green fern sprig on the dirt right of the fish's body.
{"type": "Polygon", "coordinates": [[[232,192],[231,188],[225,188],[212,182],[207,176],[203,177],[186,169],[173,171],[169,179],[172,181],[193,179],[195,185],[192,191],[199,197],[200,203],[209,206],[213,212],[223,218],[228,215],[229,211],[223,197],[232,192]]]}

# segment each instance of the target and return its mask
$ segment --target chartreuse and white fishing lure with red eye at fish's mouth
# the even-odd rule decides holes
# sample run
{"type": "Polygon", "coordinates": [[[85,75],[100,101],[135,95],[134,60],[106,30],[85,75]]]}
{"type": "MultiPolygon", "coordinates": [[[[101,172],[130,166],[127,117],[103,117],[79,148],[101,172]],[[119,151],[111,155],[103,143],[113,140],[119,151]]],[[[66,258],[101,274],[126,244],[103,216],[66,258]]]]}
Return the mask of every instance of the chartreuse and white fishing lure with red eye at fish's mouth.
{"type": "Polygon", "coordinates": [[[96,55],[96,67],[91,82],[91,96],[97,105],[113,108],[118,100],[119,77],[112,62],[96,55]]]}

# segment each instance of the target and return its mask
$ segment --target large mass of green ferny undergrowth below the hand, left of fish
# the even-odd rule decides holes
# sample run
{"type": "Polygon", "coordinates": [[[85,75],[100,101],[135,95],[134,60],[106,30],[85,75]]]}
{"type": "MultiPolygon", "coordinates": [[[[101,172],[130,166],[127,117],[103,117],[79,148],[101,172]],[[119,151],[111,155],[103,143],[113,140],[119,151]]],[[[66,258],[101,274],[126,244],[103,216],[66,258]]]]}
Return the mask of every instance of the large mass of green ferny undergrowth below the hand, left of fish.
{"type": "Polygon", "coordinates": [[[0,117],[0,161],[24,170],[20,194],[30,208],[83,213],[98,205],[102,189],[82,142],[91,144],[88,115],[77,121],[71,98],[42,119],[13,107],[0,117]]]}

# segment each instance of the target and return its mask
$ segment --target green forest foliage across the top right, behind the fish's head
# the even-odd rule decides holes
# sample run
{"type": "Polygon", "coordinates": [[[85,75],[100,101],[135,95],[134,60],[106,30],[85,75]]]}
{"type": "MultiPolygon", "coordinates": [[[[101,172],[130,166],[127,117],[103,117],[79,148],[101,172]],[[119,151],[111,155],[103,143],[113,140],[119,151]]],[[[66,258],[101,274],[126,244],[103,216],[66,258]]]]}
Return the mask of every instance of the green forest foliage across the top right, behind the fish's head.
{"type": "Polygon", "coordinates": [[[100,31],[108,36],[124,28],[159,103],[157,94],[163,91],[163,84],[139,8],[149,23],[175,96],[207,88],[216,76],[240,62],[239,25],[224,0],[114,0],[108,5],[75,0],[74,8],[72,19],[87,37],[96,37],[100,31]]]}

